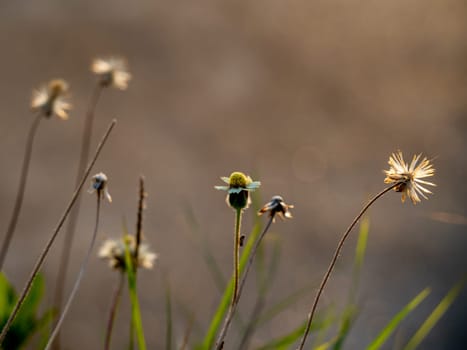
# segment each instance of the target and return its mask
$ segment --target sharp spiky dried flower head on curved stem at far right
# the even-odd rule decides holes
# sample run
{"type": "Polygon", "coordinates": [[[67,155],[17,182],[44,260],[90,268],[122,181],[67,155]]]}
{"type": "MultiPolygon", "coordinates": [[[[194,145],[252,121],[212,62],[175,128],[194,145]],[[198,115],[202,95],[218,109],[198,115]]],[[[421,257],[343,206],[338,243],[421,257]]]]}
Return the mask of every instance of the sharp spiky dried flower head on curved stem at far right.
{"type": "Polygon", "coordinates": [[[433,164],[425,157],[420,161],[421,154],[414,155],[410,165],[404,161],[401,151],[393,153],[389,157],[389,170],[385,170],[385,183],[399,183],[394,190],[402,193],[402,202],[406,197],[412,200],[413,204],[420,202],[420,196],[428,199],[425,194],[432,192],[422,185],[436,186],[432,182],[421,180],[426,177],[431,177],[435,174],[433,164]]]}

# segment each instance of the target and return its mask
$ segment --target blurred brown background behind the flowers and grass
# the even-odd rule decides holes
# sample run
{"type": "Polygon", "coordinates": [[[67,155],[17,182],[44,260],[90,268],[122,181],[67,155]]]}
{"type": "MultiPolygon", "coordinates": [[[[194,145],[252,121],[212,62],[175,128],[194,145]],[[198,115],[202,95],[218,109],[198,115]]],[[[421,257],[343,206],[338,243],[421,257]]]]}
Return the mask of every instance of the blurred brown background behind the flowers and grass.
{"type": "MultiPolygon", "coordinates": [[[[176,342],[190,313],[196,320],[193,343],[207,329],[221,292],[203,258],[206,245],[225,278],[231,274],[234,215],[224,194],[213,189],[221,185],[220,176],[243,171],[262,182],[261,202],[281,194],[295,205],[294,219],[271,230],[282,242],[267,299],[273,305],[304,286],[318,286],[340,235],[384,188],[388,156],[401,149],[406,158],[420,152],[434,158],[438,187],[417,206],[389,193],[372,207],[361,310],[345,346],[369,344],[409,300],[431,287],[385,347],[397,348],[466,272],[466,13],[463,0],[0,2],[3,231],[32,122],[32,89],[64,78],[74,106],[69,121],[53,118],[39,128],[7,275],[22,289],[71,197],[84,113],[97,79],[89,70],[92,59],[121,55],[133,80],[125,92],[104,91],[91,146],[117,118],[93,170],[108,175],[114,199],[104,204],[98,239],[120,236],[124,220],[134,227],[138,177],[144,174],[144,232],[159,254],[156,268],[140,274],[148,347],[165,344],[168,283],[176,342]]],[[[66,294],[89,244],[94,214],[95,198],[84,194],[66,294]]],[[[245,234],[254,217],[253,210],[245,213],[245,234]]],[[[320,310],[345,303],[356,233],[320,310]]],[[[59,239],[43,269],[49,304],[62,246],[59,239]]],[[[63,327],[66,349],[102,345],[117,277],[105,262],[92,259],[63,327]]],[[[252,275],[240,305],[244,319],[256,298],[255,284],[252,275]]],[[[258,329],[251,348],[303,322],[314,293],[308,288],[258,329]]],[[[466,297],[463,291],[421,348],[465,349],[466,297]]],[[[128,339],[127,298],[121,306],[115,349],[125,349],[128,339]]],[[[229,345],[237,339],[234,327],[226,348],[233,349],[229,345]]]]}

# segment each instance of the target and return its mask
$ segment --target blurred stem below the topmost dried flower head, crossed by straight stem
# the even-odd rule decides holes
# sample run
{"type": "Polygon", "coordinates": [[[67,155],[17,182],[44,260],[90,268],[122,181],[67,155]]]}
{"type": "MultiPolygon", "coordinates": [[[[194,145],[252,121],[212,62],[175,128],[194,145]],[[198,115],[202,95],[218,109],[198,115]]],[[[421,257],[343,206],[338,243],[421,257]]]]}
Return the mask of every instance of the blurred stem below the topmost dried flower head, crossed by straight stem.
{"type": "MultiPolygon", "coordinates": [[[[103,90],[103,86],[100,83],[94,88],[94,91],[91,95],[91,100],[89,102],[88,110],[86,112],[86,118],[84,121],[84,130],[81,140],[81,153],[79,157],[78,169],[76,173],[76,183],[75,187],[78,186],[81,176],[83,175],[86,164],[88,163],[89,159],[89,149],[91,146],[91,137],[92,137],[92,126],[94,122],[94,115],[97,103],[101,96],[103,90]]],[[[55,295],[54,295],[54,303],[57,310],[60,310],[63,304],[63,292],[65,288],[65,281],[66,281],[66,273],[68,271],[68,265],[70,262],[71,256],[71,247],[73,245],[73,237],[76,230],[76,224],[79,216],[79,211],[81,208],[81,196],[78,196],[76,205],[74,209],[70,213],[70,219],[68,220],[67,230],[65,233],[65,239],[63,242],[63,250],[60,257],[60,264],[58,265],[58,274],[57,274],[57,281],[55,283],[55,295]]],[[[60,339],[59,337],[56,338],[55,341],[55,348],[60,348],[60,339]]]]}

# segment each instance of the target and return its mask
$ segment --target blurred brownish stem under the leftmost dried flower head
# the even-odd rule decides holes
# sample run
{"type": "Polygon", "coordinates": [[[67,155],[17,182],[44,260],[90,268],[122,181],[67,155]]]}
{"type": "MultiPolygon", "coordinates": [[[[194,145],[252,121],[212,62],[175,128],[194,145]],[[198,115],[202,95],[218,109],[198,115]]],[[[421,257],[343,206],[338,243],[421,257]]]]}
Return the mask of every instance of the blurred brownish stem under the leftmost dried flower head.
{"type": "Polygon", "coordinates": [[[42,112],[39,112],[34,118],[31,128],[29,129],[28,138],[26,141],[26,151],[24,152],[23,167],[21,168],[21,175],[19,180],[18,192],[16,194],[15,206],[13,208],[13,213],[10,218],[10,223],[8,224],[8,229],[3,239],[2,248],[0,251],[0,271],[3,270],[3,264],[5,262],[6,254],[8,253],[8,248],[10,247],[11,239],[16,229],[16,224],[18,222],[19,213],[21,212],[21,206],[23,204],[24,191],[26,189],[26,181],[28,178],[29,163],[31,160],[32,146],[34,143],[34,136],[36,136],[36,131],[39,126],[41,119],[44,117],[42,112]]]}

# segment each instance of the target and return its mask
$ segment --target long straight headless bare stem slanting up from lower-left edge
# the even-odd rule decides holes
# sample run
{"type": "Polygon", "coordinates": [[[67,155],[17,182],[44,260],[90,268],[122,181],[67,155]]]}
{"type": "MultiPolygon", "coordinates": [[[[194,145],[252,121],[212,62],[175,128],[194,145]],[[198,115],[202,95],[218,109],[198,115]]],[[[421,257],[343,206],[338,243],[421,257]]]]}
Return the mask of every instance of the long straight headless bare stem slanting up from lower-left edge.
{"type": "Polygon", "coordinates": [[[107,131],[105,132],[104,136],[102,137],[101,142],[97,146],[96,153],[94,154],[94,157],[92,158],[92,160],[89,163],[86,171],[84,172],[78,187],[76,188],[75,192],[73,193],[73,195],[71,197],[70,202],[66,206],[65,212],[62,214],[60,220],[58,221],[57,226],[56,226],[56,228],[54,229],[54,231],[52,233],[52,237],[50,237],[49,241],[47,242],[46,246],[44,247],[44,250],[39,255],[39,258],[37,259],[36,264],[34,265],[34,268],[33,268],[32,272],[31,272],[31,275],[29,276],[29,279],[26,282],[26,286],[24,287],[23,291],[21,292],[21,295],[19,296],[18,301],[16,302],[16,305],[13,308],[13,311],[11,312],[10,316],[8,317],[8,320],[6,321],[5,325],[3,326],[2,332],[0,333],[0,345],[5,340],[5,336],[8,333],[8,330],[10,329],[10,326],[11,326],[12,322],[14,321],[16,315],[18,314],[18,311],[20,310],[21,306],[23,305],[23,302],[26,299],[26,296],[28,295],[28,293],[29,293],[29,291],[31,289],[32,283],[34,281],[34,277],[36,277],[37,273],[39,272],[40,268],[42,267],[42,264],[44,263],[44,260],[45,260],[45,258],[47,256],[47,254],[49,253],[50,248],[52,247],[52,244],[54,243],[55,239],[57,238],[57,235],[60,232],[60,229],[62,228],[63,223],[65,222],[66,218],[70,214],[70,211],[73,208],[73,205],[75,204],[76,199],[78,198],[78,195],[79,195],[81,189],[83,188],[84,183],[85,183],[87,177],[89,176],[89,173],[92,170],[92,167],[96,163],[96,160],[99,157],[99,154],[101,153],[102,148],[104,147],[105,143],[107,142],[107,139],[108,139],[108,137],[110,135],[110,132],[112,131],[112,129],[114,128],[116,123],[117,123],[117,121],[114,119],[110,123],[109,127],[107,128],[107,131]]]}

